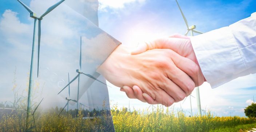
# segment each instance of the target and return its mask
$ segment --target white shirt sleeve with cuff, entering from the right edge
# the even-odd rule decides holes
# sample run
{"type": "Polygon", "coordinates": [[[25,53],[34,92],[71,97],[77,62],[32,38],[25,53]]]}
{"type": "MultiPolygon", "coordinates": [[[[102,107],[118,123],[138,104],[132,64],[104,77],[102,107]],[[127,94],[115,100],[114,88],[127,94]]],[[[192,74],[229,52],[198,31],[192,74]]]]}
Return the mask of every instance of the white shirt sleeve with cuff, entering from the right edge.
{"type": "Polygon", "coordinates": [[[256,12],[232,25],[191,37],[191,43],[212,88],[256,73],[256,12]]]}

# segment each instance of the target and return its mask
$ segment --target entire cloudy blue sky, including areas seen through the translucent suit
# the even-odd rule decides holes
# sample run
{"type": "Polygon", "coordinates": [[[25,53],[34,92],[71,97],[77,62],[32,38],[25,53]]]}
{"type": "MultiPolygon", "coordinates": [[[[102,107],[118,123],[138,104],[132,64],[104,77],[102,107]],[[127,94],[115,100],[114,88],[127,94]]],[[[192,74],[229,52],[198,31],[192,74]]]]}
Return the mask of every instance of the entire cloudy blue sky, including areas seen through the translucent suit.
{"type": "MultiPolygon", "coordinates": [[[[81,3],[85,1],[79,0],[81,3]]],[[[93,5],[94,0],[88,1],[93,5]]],[[[42,0],[23,0],[23,2],[36,12],[43,13],[56,0],[48,0],[48,3],[42,0]]],[[[228,26],[256,12],[255,0],[179,0],[178,2],[188,20],[188,24],[196,25],[196,29],[201,32],[209,32],[228,26]]],[[[79,20],[87,22],[84,16],[90,17],[89,19],[94,22],[97,18],[91,14],[97,13],[99,27],[103,31],[122,42],[122,44],[132,47],[135,47],[139,42],[169,36],[173,33],[184,34],[186,31],[184,20],[175,0],[99,0],[99,11],[84,11],[85,15],[77,14],[72,9],[64,6],[70,3],[72,3],[71,0],[66,0],[63,5],[56,8],[56,11],[49,13],[42,20],[41,75],[37,81],[41,88],[48,88],[41,95],[46,100],[43,106],[47,106],[48,103],[58,103],[59,106],[65,105],[65,99],[63,98],[67,94],[56,98],[53,97],[56,96],[56,92],[67,84],[67,73],[70,73],[70,78],[73,78],[76,75],[74,69],[79,68],[80,36],[78,34],[84,34],[84,45],[88,43],[98,44],[99,42],[99,34],[91,34],[89,31],[100,29],[96,29],[93,26],[89,31],[82,31],[88,30],[84,26],[88,24],[79,23],[79,20]],[[68,8],[67,11],[65,10],[66,8],[68,8]],[[59,12],[61,13],[60,15],[58,14],[59,12]],[[75,17],[71,17],[74,15],[75,17]],[[83,27],[82,29],[80,29],[80,25],[83,25],[81,26],[83,27]],[[73,37],[76,37],[76,39],[73,37]]],[[[72,7],[72,5],[70,7],[75,11],[80,10],[80,7],[72,7]]],[[[15,67],[17,87],[25,89],[27,85],[32,31],[33,19],[29,17],[27,11],[16,0],[0,0],[0,61],[3,62],[0,66],[0,90],[3,91],[0,93],[0,102],[13,101],[11,89],[15,67]]],[[[103,36],[107,35],[103,34],[103,36]]],[[[92,64],[93,59],[88,59],[93,54],[92,51],[94,49],[88,48],[84,49],[84,51],[82,58],[86,59],[83,59],[82,65],[84,67],[82,68],[91,70],[87,64],[89,63],[93,66],[97,64],[92,64]]],[[[100,59],[97,60],[99,61],[100,59]]],[[[103,80],[102,77],[100,79],[103,80]]],[[[244,116],[243,109],[253,102],[253,95],[256,95],[255,80],[256,75],[251,74],[214,89],[208,83],[204,83],[200,86],[202,109],[210,110],[216,116],[244,116]]],[[[76,87],[76,85],[77,82],[72,84],[71,87],[76,87]]],[[[119,107],[130,106],[136,110],[142,110],[150,106],[139,100],[129,99],[124,92],[119,91],[120,88],[110,83],[108,85],[111,86],[108,90],[105,88],[96,90],[93,87],[104,86],[94,82],[89,88],[91,91],[88,90],[81,97],[81,103],[91,106],[93,104],[89,102],[92,100],[100,100],[102,102],[105,96],[100,96],[101,94],[90,96],[90,93],[109,92],[110,106],[117,104],[119,107]]],[[[67,93],[67,91],[64,92],[67,93]]],[[[195,91],[192,92],[192,95],[196,96],[195,91]]],[[[71,98],[75,98],[75,95],[72,95],[71,98]]],[[[41,100],[41,98],[37,100],[41,100]]],[[[191,101],[193,114],[196,114],[196,99],[192,98],[191,101]]],[[[93,107],[97,106],[100,106],[100,103],[93,107]]],[[[189,99],[186,99],[184,103],[183,101],[175,103],[173,106],[175,109],[183,108],[184,111],[189,111],[189,99]]],[[[189,113],[186,112],[186,114],[189,113]]]]}

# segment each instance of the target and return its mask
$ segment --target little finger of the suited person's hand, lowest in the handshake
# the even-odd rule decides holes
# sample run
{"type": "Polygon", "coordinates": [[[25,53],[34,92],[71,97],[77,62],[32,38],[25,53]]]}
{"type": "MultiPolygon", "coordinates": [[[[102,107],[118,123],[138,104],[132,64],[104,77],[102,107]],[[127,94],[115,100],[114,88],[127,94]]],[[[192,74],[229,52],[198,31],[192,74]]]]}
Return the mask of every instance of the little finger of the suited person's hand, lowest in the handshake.
{"type": "Polygon", "coordinates": [[[167,94],[162,88],[160,89],[161,90],[159,90],[158,93],[156,94],[156,101],[160,104],[163,104],[166,107],[171,106],[175,102],[175,100],[172,98],[172,96],[167,94]]]}

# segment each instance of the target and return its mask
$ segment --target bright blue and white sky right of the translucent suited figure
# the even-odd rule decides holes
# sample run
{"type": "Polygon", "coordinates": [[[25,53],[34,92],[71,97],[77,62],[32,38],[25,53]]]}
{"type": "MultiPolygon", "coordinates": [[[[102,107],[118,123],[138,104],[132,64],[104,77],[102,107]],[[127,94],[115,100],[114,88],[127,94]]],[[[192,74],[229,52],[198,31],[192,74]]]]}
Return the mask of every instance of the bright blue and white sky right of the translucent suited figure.
{"type": "MultiPolygon", "coordinates": [[[[146,41],[173,33],[184,34],[185,22],[175,0],[121,0],[123,4],[100,1],[99,26],[125,45],[136,46],[146,41]]],[[[196,25],[197,30],[208,32],[233,24],[251,13],[256,12],[255,0],[178,0],[188,24],[196,25]]],[[[218,116],[244,116],[243,109],[253,100],[256,94],[256,75],[235,79],[220,87],[212,89],[208,83],[200,87],[201,107],[211,110],[218,116]]],[[[119,89],[109,88],[112,103],[134,108],[145,108],[148,105],[135,99],[128,99],[119,89]]],[[[196,96],[195,91],[192,92],[196,96]]],[[[183,109],[189,111],[189,100],[183,109]]],[[[196,99],[192,98],[193,113],[196,113],[196,99]]],[[[175,108],[180,108],[176,103],[175,108]]],[[[189,113],[187,113],[189,114],[189,113]]]]}

